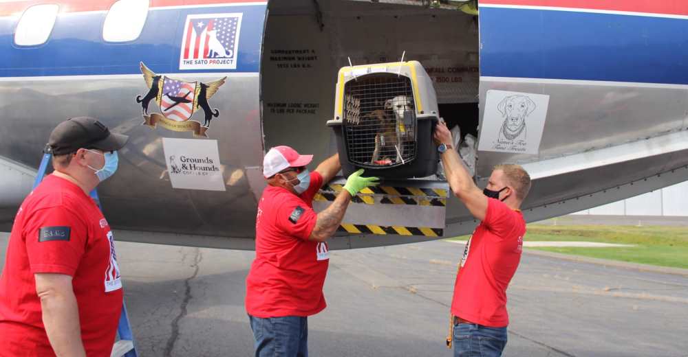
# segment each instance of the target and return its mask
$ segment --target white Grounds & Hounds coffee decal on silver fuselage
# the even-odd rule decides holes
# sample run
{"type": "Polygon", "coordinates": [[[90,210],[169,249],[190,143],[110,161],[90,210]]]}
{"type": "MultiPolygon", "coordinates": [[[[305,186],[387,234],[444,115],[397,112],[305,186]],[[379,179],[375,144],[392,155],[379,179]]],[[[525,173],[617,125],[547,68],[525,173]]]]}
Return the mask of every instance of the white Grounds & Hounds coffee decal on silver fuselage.
{"type": "Polygon", "coordinates": [[[225,191],[217,140],[162,138],[173,188],[225,191]]]}

